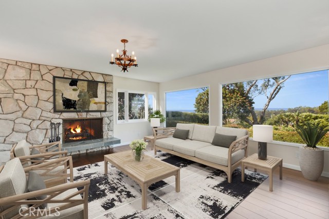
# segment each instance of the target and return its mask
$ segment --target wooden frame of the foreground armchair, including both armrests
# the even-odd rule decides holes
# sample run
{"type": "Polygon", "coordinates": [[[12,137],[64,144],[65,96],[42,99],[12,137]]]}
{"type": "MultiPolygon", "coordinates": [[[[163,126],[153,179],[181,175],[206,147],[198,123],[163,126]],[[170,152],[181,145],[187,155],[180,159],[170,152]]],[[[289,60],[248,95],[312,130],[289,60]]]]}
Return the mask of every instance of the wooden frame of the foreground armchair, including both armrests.
{"type": "MultiPolygon", "coordinates": [[[[3,170],[4,166],[0,166],[0,172],[3,170]]],[[[88,218],[88,190],[90,185],[90,180],[85,181],[79,181],[79,182],[73,182],[73,172],[72,172],[72,157],[62,157],[53,159],[52,161],[45,162],[43,164],[33,165],[24,168],[24,171],[26,175],[28,175],[28,172],[31,170],[37,170],[39,171],[38,174],[41,176],[51,176],[49,180],[45,180],[46,189],[34,191],[34,192],[27,192],[23,194],[13,195],[9,197],[0,198],[0,206],[10,206],[10,208],[1,211],[0,210],[0,218],[4,218],[4,216],[9,213],[14,208],[20,207],[21,205],[28,205],[30,206],[25,211],[22,211],[21,214],[17,214],[12,219],[21,219],[21,218],[37,218],[36,215],[28,215],[23,216],[25,213],[29,213],[29,209],[33,208],[36,209],[40,205],[45,203],[61,203],[62,205],[58,206],[57,208],[53,209],[47,209],[48,214],[55,214],[57,211],[61,211],[64,209],[68,209],[71,207],[75,207],[78,205],[83,204],[84,209],[84,219],[88,218]],[[68,164],[64,164],[68,162],[68,164]],[[49,173],[49,171],[56,166],[59,165],[65,165],[67,168],[65,170],[62,170],[60,172],[56,173],[49,173]],[[69,173],[67,173],[67,169],[70,170],[69,173]],[[40,172],[41,171],[41,172],[40,172]],[[69,178],[71,183],[66,183],[67,178],[69,178]],[[62,182],[60,185],[59,182],[62,182]],[[53,186],[56,185],[56,186],[53,186]],[[58,198],[57,196],[66,190],[77,188],[78,191],[70,194],[64,198],[58,198]],[[80,189],[80,190],[79,190],[80,189]],[[82,199],[74,198],[76,195],[82,194],[82,199]],[[41,196],[41,195],[47,195],[47,198],[44,200],[30,200],[35,197],[41,196]]],[[[49,217],[51,218],[51,217],[49,217]]]]}

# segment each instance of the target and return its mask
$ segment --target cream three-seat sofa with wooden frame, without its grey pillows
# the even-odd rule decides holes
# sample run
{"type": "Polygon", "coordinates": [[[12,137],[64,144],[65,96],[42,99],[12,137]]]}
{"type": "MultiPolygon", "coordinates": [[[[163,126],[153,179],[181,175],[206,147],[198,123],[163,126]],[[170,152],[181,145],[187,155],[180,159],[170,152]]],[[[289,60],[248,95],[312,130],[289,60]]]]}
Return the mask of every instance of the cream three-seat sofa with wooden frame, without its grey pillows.
{"type": "Polygon", "coordinates": [[[223,170],[227,174],[227,180],[231,183],[232,172],[241,164],[241,160],[247,157],[249,133],[245,129],[227,128],[220,126],[204,126],[198,124],[178,123],[176,128],[156,128],[153,131],[155,148],[188,160],[198,162],[216,169],[223,170]],[[175,138],[172,135],[175,129],[189,130],[186,140],[175,138]],[[212,144],[215,133],[223,135],[235,135],[236,139],[229,148],[212,144]],[[167,138],[157,139],[157,137],[167,138]]]}

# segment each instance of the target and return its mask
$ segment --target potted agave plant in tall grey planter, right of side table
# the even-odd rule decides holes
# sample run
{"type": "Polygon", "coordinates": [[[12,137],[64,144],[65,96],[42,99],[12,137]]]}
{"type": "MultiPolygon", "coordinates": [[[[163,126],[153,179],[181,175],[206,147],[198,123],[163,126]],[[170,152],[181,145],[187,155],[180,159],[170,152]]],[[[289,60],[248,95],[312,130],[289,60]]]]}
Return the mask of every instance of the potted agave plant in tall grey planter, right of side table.
{"type": "Polygon", "coordinates": [[[329,127],[306,122],[305,126],[297,125],[296,131],[306,144],[299,148],[300,169],[307,180],[317,181],[323,171],[324,150],[316,146],[329,127]]]}

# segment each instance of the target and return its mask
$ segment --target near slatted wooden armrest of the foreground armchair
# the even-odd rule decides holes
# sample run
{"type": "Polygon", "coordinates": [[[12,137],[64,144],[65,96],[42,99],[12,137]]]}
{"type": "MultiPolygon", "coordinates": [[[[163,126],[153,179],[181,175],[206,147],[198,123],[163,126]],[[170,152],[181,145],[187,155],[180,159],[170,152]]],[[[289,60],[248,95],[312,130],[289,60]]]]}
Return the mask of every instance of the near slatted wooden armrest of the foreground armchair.
{"type": "MultiPolygon", "coordinates": [[[[38,216],[28,215],[23,216],[24,214],[29,213],[30,208],[38,208],[42,204],[58,204],[54,208],[47,208],[48,214],[54,214],[61,210],[65,210],[71,207],[78,205],[84,205],[84,218],[88,218],[88,190],[89,190],[90,180],[79,181],[75,183],[66,183],[51,188],[46,188],[34,192],[27,192],[23,194],[13,195],[10,197],[0,198],[0,206],[10,206],[6,210],[0,210],[0,218],[5,216],[10,211],[20,208],[21,205],[29,205],[30,207],[24,208],[26,210],[21,211],[21,214],[16,214],[15,219],[19,218],[36,218],[38,216]],[[82,187],[82,189],[81,189],[82,187]],[[69,189],[76,188],[77,191],[71,194],[65,194],[65,197],[59,197],[60,194],[64,193],[69,189]],[[79,190],[80,189],[80,190],[79,190]],[[82,194],[83,198],[75,198],[76,195],[82,194]],[[44,200],[29,200],[31,198],[39,197],[41,195],[47,195],[44,200]]],[[[62,195],[63,196],[63,195],[62,195]]]]}

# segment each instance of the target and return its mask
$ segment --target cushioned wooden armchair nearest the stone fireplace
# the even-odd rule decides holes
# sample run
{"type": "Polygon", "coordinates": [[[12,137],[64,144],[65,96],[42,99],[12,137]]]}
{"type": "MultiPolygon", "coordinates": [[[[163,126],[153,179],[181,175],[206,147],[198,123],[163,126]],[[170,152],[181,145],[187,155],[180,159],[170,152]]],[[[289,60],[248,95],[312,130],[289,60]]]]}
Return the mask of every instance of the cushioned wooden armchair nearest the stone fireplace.
{"type": "Polygon", "coordinates": [[[62,151],[61,142],[30,146],[22,140],[10,150],[10,158],[19,157],[23,167],[42,164],[50,159],[65,156],[67,156],[67,151],[62,151]]]}

